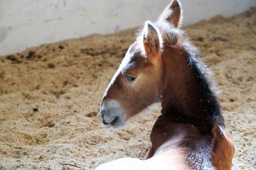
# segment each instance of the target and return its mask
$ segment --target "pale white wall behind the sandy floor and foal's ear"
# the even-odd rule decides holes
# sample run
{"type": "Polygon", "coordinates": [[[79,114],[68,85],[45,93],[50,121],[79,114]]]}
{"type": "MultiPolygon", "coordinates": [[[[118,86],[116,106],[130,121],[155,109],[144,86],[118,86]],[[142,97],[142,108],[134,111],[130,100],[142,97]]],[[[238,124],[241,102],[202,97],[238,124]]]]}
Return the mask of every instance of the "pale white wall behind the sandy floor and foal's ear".
{"type": "MultiPolygon", "coordinates": [[[[184,24],[234,15],[255,0],[180,0],[184,24]]],[[[0,55],[30,46],[110,33],[156,19],[170,0],[0,0],[0,55]]]]}

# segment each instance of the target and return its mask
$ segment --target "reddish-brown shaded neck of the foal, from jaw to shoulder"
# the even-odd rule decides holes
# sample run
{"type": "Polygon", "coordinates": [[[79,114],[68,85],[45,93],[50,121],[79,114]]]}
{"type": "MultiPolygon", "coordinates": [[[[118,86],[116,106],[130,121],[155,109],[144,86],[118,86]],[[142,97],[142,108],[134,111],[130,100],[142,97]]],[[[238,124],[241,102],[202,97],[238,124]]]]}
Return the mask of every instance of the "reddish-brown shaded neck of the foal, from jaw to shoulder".
{"type": "Polygon", "coordinates": [[[174,122],[211,131],[214,124],[224,125],[220,106],[195,61],[189,63],[189,57],[193,56],[181,47],[168,46],[162,53],[162,114],[172,115],[174,122]]]}

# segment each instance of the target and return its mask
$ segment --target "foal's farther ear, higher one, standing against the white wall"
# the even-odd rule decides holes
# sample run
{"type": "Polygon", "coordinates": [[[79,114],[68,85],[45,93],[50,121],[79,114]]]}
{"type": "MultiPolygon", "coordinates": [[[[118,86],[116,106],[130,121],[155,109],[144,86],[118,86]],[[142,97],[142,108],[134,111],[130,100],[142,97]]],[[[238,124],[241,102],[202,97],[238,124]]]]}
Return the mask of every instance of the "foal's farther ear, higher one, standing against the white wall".
{"type": "Polygon", "coordinates": [[[179,0],[173,0],[159,19],[169,22],[174,27],[180,27],[180,23],[182,22],[182,8],[179,0]]]}

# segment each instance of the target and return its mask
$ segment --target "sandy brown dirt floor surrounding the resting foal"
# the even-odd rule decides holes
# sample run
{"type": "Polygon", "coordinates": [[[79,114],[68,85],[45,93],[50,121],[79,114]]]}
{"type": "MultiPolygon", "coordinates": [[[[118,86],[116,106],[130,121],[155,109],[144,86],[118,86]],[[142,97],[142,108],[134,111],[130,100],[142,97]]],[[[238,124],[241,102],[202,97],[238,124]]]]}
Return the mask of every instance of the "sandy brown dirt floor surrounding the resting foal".
{"type": "MultiPolygon", "coordinates": [[[[214,71],[233,169],[256,169],[256,8],[184,27],[214,71]]],[[[100,122],[109,80],[134,41],[130,29],[29,48],[0,57],[0,169],[93,169],[143,159],[159,113],[113,129],[100,122]]]]}

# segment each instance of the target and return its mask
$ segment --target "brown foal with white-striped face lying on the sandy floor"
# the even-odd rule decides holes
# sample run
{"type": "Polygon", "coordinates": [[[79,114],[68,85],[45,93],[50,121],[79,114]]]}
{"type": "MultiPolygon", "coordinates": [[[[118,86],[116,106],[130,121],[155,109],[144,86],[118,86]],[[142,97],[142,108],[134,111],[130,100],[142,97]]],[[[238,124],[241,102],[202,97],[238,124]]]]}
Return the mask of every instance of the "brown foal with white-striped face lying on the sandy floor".
{"type": "Polygon", "coordinates": [[[234,143],[205,77],[209,71],[179,29],[181,12],[174,0],[157,22],[145,23],[100,106],[102,122],[118,127],[161,103],[147,159],[122,158],[97,169],[231,169],[234,143]]]}

